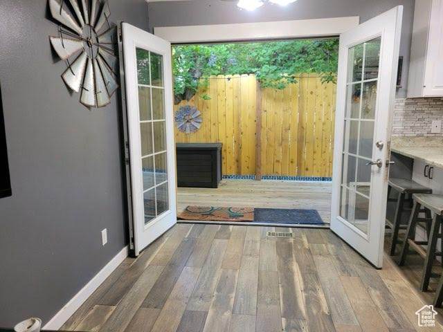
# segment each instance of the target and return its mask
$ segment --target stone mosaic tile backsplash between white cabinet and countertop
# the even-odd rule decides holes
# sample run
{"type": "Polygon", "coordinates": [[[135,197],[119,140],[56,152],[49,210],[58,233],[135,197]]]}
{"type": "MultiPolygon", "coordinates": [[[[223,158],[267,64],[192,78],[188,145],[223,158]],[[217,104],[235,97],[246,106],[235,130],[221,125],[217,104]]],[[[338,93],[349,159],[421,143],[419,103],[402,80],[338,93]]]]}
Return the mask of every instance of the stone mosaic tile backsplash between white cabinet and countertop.
{"type": "Polygon", "coordinates": [[[392,136],[443,136],[431,133],[433,120],[443,122],[443,98],[397,99],[392,136]]]}

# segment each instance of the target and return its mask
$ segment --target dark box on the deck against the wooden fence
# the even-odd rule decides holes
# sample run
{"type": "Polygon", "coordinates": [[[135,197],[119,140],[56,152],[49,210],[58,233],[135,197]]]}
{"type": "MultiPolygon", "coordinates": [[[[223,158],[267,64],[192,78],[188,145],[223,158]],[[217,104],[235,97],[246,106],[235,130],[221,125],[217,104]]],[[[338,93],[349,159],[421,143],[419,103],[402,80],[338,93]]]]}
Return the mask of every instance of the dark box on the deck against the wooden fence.
{"type": "Polygon", "coordinates": [[[221,181],[221,143],[177,143],[177,185],[217,188],[221,181]]]}

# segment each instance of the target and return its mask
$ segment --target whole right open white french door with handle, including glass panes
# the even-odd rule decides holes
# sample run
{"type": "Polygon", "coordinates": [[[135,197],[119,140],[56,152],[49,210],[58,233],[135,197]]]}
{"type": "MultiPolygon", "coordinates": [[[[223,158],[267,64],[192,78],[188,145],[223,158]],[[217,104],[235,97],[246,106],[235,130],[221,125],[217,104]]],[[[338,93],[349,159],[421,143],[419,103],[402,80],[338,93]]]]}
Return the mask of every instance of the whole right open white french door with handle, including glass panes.
{"type": "Polygon", "coordinates": [[[331,230],[381,268],[403,7],[340,36],[331,230]]]}

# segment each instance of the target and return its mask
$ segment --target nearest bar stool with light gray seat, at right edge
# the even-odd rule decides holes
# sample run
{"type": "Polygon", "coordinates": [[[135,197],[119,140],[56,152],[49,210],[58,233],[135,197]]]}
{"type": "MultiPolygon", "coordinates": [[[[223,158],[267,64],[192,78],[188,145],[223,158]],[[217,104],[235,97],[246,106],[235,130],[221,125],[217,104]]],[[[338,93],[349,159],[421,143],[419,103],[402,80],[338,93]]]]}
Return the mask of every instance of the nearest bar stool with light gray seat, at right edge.
{"type": "Polygon", "coordinates": [[[434,258],[436,256],[442,257],[442,252],[435,252],[435,246],[437,244],[437,239],[442,239],[443,237],[442,232],[440,232],[443,214],[443,195],[413,194],[413,200],[413,212],[410,214],[408,228],[406,230],[406,238],[403,243],[403,248],[401,249],[399,265],[404,265],[409,247],[418,252],[418,254],[424,258],[422,284],[420,289],[422,291],[427,291],[434,258]],[[433,212],[431,226],[426,227],[429,229],[428,241],[415,241],[415,228],[417,227],[417,223],[430,222],[428,218],[418,218],[420,207],[433,212]],[[426,250],[424,250],[422,245],[426,245],[426,250]]]}

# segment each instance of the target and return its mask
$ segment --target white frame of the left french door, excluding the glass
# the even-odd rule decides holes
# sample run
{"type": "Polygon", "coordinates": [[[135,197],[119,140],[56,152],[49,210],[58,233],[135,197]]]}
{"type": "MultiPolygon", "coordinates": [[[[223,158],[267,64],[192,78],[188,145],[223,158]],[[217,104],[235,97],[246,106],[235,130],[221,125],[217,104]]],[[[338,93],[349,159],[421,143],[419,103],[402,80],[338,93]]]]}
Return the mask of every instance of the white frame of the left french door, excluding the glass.
{"type": "MultiPolygon", "coordinates": [[[[138,255],[143,248],[156,240],[166,230],[177,223],[176,178],[175,178],[175,147],[174,119],[172,109],[172,57],[169,42],[156,37],[145,30],[122,23],[123,50],[125,64],[125,95],[127,107],[127,134],[129,138],[131,191],[132,191],[132,224],[129,232],[134,236],[130,241],[130,249],[138,255]],[[130,37],[127,37],[130,36],[130,37]],[[163,56],[163,85],[165,98],[165,131],[166,151],[168,156],[168,210],[145,224],[143,203],[143,176],[141,174],[141,133],[138,104],[138,77],[136,68],[136,48],[143,48],[163,56]],[[134,89],[135,88],[135,89],[134,89]],[[169,100],[169,102],[168,102],[169,100]],[[140,194],[141,193],[141,194],[140,194]]],[[[153,134],[154,135],[154,134],[153,134]]]]}

